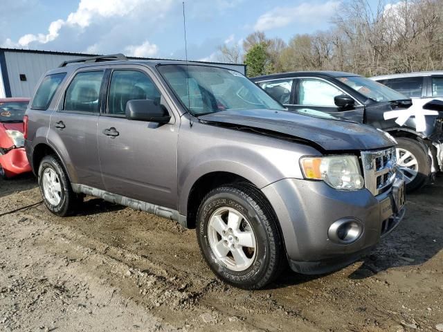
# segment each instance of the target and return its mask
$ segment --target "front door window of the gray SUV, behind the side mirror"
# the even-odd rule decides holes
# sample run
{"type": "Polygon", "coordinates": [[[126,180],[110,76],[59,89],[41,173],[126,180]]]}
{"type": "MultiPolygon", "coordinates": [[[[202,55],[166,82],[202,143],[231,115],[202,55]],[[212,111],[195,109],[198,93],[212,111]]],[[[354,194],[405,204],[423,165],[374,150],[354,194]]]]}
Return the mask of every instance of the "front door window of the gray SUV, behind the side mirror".
{"type": "Polygon", "coordinates": [[[108,114],[124,116],[129,100],[150,99],[160,102],[161,93],[141,71],[116,70],[112,73],[108,96],[108,114]]]}

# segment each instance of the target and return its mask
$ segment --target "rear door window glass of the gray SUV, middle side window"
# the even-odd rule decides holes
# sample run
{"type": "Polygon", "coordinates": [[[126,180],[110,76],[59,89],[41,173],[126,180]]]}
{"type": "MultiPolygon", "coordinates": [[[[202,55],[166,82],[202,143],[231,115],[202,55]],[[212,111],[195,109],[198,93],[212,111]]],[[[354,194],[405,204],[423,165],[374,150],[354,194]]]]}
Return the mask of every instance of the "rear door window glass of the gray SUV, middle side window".
{"type": "Polygon", "coordinates": [[[71,81],[64,98],[64,110],[98,113],[100,86],[104,71],[80,72],[71,81]]]}

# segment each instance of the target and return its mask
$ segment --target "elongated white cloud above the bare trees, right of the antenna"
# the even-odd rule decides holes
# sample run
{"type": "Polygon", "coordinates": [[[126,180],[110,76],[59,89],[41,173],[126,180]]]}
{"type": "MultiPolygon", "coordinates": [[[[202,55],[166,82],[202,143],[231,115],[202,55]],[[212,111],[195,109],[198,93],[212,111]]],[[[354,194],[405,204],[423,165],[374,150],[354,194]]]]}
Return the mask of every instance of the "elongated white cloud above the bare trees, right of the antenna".
{"type": "Polygon", "coordinates": [[[340,1],[329,0],[325,3],[301,3],[294,7],[276,7],[261,15],[254,25],[254,30],[265,31],[282,28],[293,22],[316,24],[334,15],[340,1]]]}

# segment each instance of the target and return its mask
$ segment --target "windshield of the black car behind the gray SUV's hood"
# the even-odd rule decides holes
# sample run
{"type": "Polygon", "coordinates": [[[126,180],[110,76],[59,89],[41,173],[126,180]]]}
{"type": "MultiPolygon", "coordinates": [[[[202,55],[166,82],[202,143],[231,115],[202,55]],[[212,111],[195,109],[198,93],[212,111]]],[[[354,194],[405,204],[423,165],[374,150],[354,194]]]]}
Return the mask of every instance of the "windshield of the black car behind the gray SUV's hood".
{"type": "Polygon", "coordinates": [[[386,85],[374,82],[365,77],[347,76],[338,77],[338,80],[376,102],[392,102],[394,100],[408,99],[406,95],[402,95],[401,93],[388,88],[386,85]]]}

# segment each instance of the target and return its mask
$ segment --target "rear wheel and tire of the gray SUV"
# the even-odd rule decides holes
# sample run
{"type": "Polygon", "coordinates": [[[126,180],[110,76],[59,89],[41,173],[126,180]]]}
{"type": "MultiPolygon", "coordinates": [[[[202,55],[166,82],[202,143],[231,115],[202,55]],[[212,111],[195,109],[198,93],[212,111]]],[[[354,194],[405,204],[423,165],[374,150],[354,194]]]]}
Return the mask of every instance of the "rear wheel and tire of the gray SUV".
{"type": "Polygon", "coordinates": [[[71,214],[80,203],[80,196],[73,192],[62,163],[56,156],[45,156],[42,159],[38,183],[46,208],[57,216],[71,214]],[[49,183],[52,183],[52,190],[49,183]]]}

